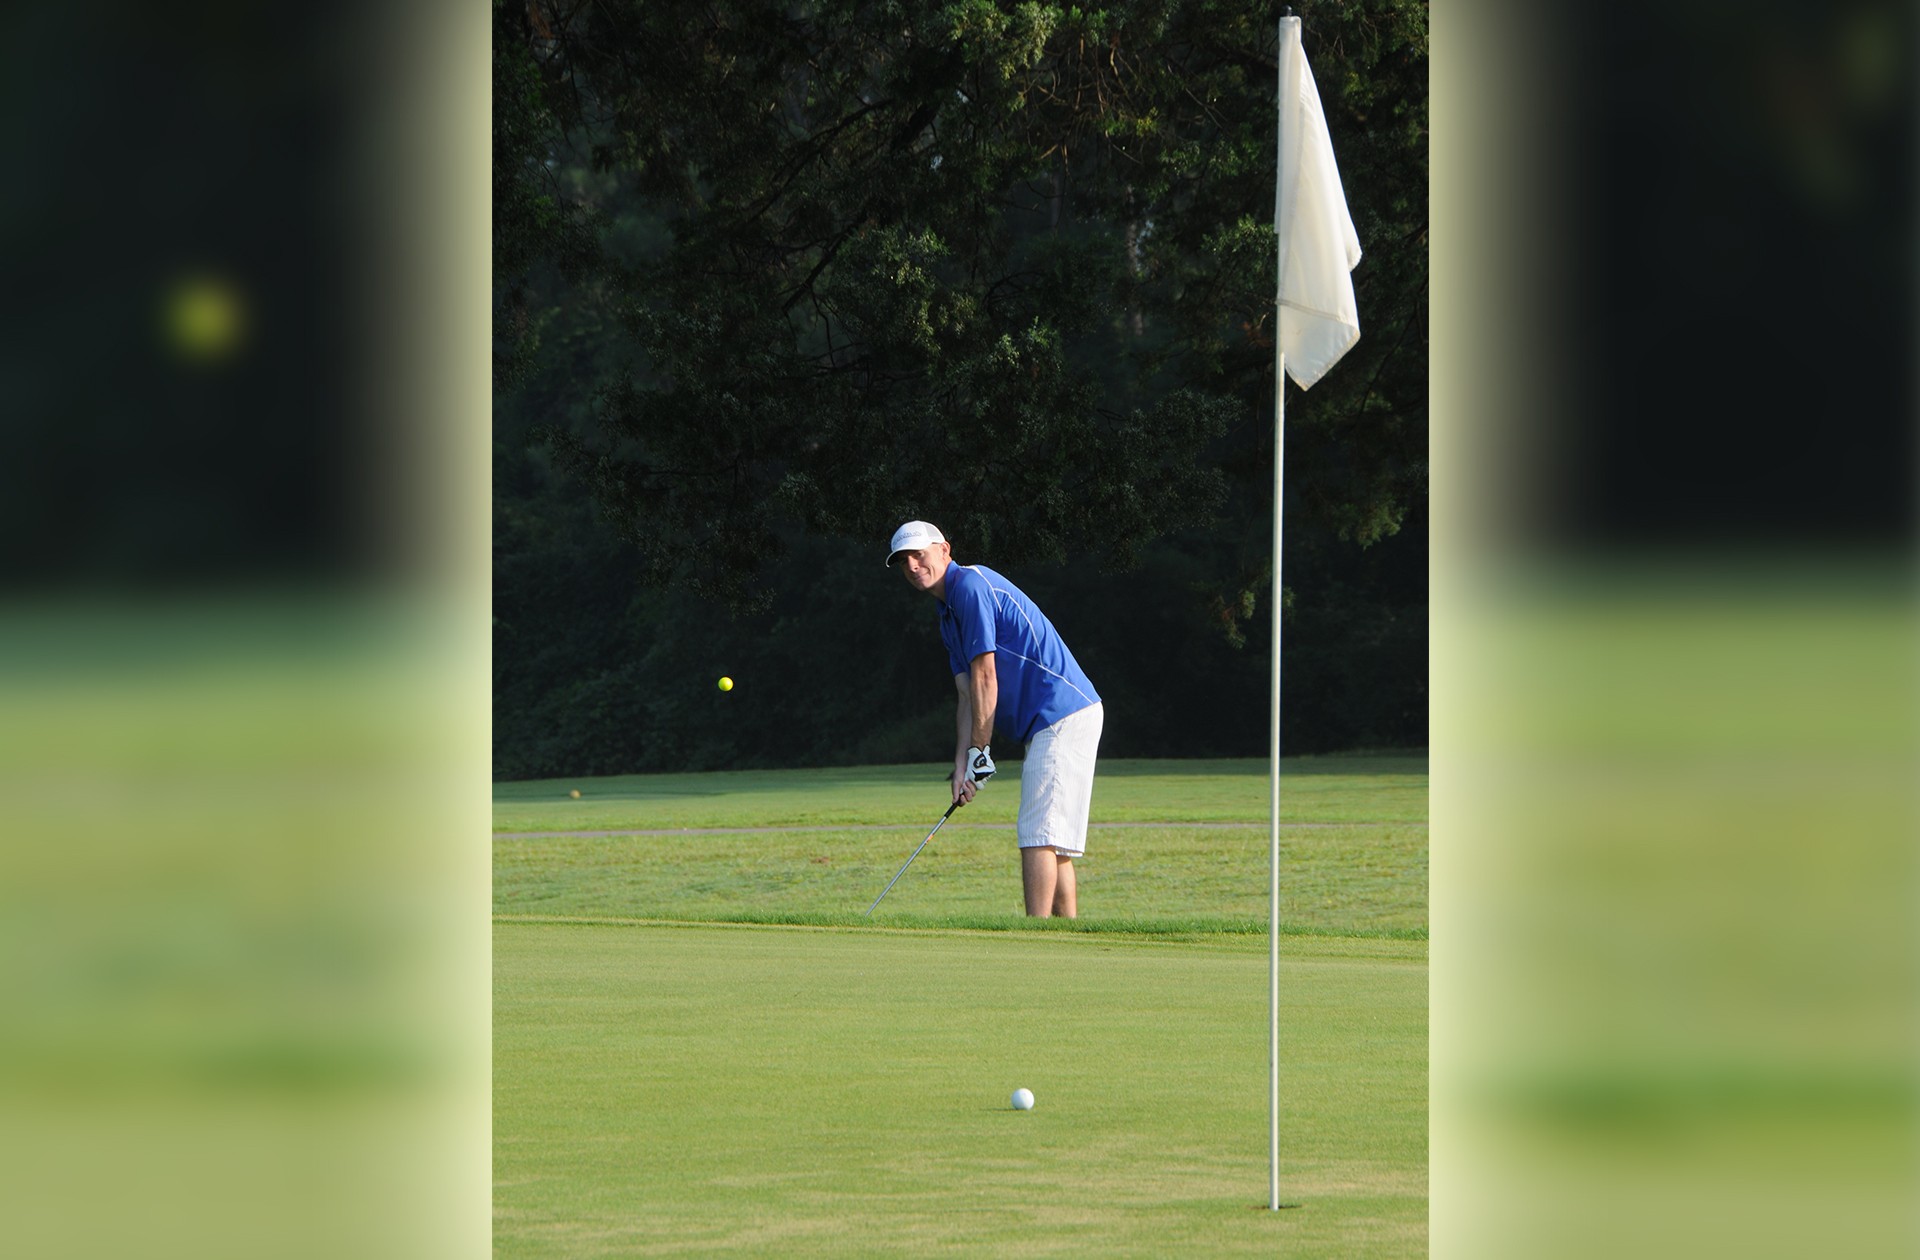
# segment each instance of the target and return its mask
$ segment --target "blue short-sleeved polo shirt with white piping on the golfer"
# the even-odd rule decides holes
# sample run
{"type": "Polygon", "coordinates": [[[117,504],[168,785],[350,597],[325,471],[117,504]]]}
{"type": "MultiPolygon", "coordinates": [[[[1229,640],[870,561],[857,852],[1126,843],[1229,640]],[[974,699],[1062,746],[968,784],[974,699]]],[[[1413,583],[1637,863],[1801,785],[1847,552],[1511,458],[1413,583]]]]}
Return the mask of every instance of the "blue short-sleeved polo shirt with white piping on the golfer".
{"type": "Polygon", "coordinates": [[[1000,701],[995,726],[1021,743],[1069,713],[1100,703],[1087,672],[1054,622],[1027,595],[985,565],[948,565],[941,642],[954,674],[993,653],[1000,701]]]}

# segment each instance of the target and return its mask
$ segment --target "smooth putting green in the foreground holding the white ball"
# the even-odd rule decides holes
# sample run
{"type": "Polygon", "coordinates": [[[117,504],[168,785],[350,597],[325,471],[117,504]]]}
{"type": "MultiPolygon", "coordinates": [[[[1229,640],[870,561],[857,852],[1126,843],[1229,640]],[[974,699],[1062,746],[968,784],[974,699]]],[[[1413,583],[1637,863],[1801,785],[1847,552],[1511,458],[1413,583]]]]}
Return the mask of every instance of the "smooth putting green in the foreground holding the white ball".
{"type": "Polygon", "coordinates": [[[499,1256],[1427,1252],[1423,941],[1284,941],[1283,1212],[1261,939],[493,941],[499,1256]]]}

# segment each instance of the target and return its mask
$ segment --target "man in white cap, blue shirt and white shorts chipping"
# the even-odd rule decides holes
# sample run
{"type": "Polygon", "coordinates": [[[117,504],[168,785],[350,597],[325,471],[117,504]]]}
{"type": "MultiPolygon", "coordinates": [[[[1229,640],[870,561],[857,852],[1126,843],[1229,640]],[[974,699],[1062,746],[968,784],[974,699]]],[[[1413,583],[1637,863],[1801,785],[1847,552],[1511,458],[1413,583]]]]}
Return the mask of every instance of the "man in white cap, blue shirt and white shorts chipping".
{"type": "Polygon", "coordinates": [[[985,565],[956,565],[925,521],[893,532],[887,565],[941,605],[941,642],[960,690],[954,801],[993,776],[993,728],[1027,745],[1020,774],[1020,878],[1027,914],[1073,918],[1073,859],[1087,851],[1100,695],[1060,632],[1025,594],[985,565]]]}

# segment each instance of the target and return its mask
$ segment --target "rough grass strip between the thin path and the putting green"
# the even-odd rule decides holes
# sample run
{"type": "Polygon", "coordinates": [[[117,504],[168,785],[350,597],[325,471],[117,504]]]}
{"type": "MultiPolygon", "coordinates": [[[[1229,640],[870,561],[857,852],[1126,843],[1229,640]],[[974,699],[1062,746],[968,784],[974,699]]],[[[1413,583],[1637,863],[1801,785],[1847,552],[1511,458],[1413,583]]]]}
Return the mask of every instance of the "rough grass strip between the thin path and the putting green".
{"type": "MultiPolygon", "coordinates": [[[[852,922],[925,837],[920,830],[520,836],[493,845],[497,914],[695,922],[852,922]]],[[[1098,832],[1079,860],[1083,928],[1265,932],[1265,828],[1098,832]]],[[[1425,935],[1427,828],[1344,824],[1281,834],[1290,932],[1425,935]]],[[[1020,926],[1006,830],[948,830],[874,910],[877,924],[1020,926]]]]}

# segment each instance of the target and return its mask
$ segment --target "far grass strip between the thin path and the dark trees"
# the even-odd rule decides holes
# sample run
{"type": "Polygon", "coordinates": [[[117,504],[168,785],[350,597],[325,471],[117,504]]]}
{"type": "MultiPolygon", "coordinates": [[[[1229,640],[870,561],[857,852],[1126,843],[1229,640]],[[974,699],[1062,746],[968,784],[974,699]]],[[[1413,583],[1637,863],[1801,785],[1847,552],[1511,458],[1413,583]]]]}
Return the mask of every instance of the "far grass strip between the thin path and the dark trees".
{"type": "MultiPolygon", "coordinates": [[[[747,826],[931,828],[947,763],[526,780],[493,786],[495,832],[747,826]],[[574,799],[568,793],[580,791],[574,799]]],[[[1021,763],[968,805],[970,822],[1012,826],[1021,763]]],[[[1094,822],[1265,822],[1267,761],[1102,761],[1094,822]]],[[[1281,822],[1425,822],[1425,757],[1296,757],[1281,763],[1281,822]]]]}

